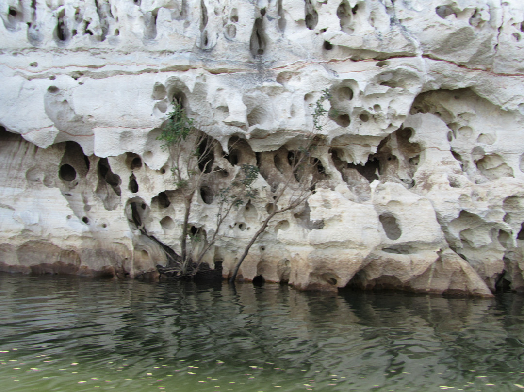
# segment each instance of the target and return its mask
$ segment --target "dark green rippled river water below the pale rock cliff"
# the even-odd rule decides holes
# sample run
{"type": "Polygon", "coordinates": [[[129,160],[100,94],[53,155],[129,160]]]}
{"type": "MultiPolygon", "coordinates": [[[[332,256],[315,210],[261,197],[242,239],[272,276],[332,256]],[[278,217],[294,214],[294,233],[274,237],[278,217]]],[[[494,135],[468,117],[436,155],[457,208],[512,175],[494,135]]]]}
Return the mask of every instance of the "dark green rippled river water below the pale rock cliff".
{"type": "Polygon", "coordinates": [[[4,391],[524,388],[521,296],[0,275],[4,391]]]}

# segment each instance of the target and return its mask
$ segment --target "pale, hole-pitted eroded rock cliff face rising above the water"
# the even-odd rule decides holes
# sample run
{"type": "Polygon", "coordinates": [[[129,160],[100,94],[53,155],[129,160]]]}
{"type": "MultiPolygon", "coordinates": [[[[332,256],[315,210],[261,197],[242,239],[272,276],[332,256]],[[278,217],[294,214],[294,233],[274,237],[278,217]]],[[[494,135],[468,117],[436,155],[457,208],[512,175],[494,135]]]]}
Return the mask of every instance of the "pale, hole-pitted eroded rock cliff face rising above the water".
{"type": "Polygon", "coordinates": [[[160,243],[180,252],[157,140],[177,99],[221,145],[195,232],[214,230],[240,165],[260,168],[204,258],[227,276],[328,88],[315,193],[241,275],[524,290],[521,2],[2,0],[0,17],[1,269],[133,277],[166,263],[160,243]]]}

